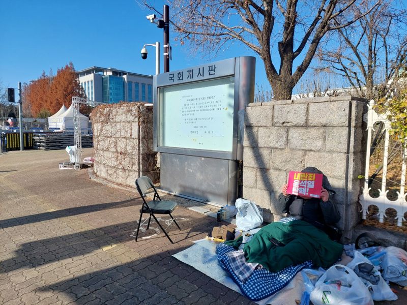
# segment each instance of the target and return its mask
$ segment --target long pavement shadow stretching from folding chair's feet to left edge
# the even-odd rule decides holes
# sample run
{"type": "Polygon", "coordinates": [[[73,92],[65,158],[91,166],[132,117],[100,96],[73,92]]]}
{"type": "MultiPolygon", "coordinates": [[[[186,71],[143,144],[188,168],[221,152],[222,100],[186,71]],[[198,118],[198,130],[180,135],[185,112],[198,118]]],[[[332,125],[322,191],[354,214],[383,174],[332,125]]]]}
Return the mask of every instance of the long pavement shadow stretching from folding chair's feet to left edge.
{"type": "MultiPolygon", "coordinates": [[[[173,224],[167,230],[168,234],[174,238],[173,240],[176,242],[194,237],[201,234],[202,231],[206,232],[207,230],[206,228],[208,225],[206,223],[199,224],[198,220],[187,220],[188,224],[186,224],[183,221],[186,220],[185,218],[176,217],[176,219],[179,222],[182,231],[179,231],[179,229],[173,224]],[[190,222],[196,223],[196,226],[191,228],[190,222]],[[181,239],[180,235],[183,235],[181,239]]],[[[0,262],[0,274],[21,268],[37,268],[44,264],[86,255],[96,250],[100,251],[102,249],[104,251],[105,247],[109,248],[112,245],[116,246],[120,245],[120,243],[132,240],[134,243],[131,243],[129,246],[136,251],[142,241],[160,242],[160,245],[167,245],[169,243],[168,239],[162,232],[160,232],[154,221],[150,224],[149,230],[146,230],[147,223],[140,227],[140,239],[136,242],[134,239],[137,223],[138,220],[130,221],[117,225],[110,225],[23,243],[17,250],[15,250],[15,255],[12,258],[0,262]],[[150,236],[146,237],[146,234],[150,236]]],[[[175,247],[177,247],[177,245],[175,245],[175,247]]]]}

